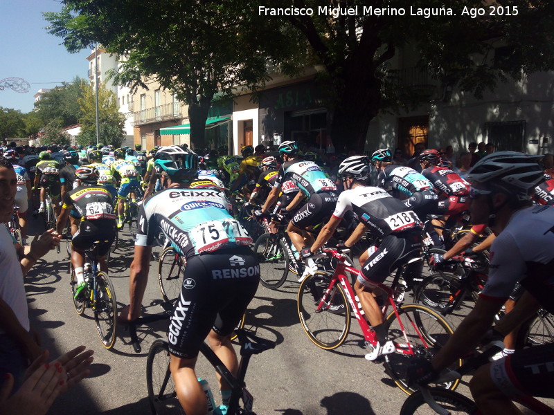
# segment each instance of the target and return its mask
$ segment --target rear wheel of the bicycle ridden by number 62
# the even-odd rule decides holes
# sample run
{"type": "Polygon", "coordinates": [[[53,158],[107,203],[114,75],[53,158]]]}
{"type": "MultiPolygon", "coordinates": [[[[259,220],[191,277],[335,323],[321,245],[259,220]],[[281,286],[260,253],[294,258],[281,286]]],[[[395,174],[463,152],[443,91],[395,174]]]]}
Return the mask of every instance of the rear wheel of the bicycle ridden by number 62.
{"type": "Polygon", "coordinates": [[[116,291],[109,277],[101,271],[96,275],[96,287],[96,301],[93,303],[94,321],[102,345],[106,349],[111,349],[116,342],[116,291]]]}

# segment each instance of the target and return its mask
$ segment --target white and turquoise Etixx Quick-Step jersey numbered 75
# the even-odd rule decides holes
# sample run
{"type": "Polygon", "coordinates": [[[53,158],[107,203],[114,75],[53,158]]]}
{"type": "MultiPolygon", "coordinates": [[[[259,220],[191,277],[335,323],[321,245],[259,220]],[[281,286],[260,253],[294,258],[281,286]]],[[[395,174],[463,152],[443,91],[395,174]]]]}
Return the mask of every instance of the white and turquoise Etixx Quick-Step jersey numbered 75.
{"type": "Polygon", "coordinates": [[[160,230],[187,259],[199,253],[249,245],[251,237],[231,216],[228,205],[223,191],[163,190],[141,205],[135,245],[152,245],[160,230]]]}

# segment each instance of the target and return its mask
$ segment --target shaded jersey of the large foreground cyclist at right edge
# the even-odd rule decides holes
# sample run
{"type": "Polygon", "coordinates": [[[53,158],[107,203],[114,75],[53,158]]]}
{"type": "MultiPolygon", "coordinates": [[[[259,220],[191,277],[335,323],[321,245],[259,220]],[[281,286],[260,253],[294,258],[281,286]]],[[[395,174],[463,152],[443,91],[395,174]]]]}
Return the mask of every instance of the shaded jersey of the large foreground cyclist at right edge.
{"type": "Polygon", "coordinates": [[[554,313],[552,246],[554,207],[534,206],[513,214],[490,247],[489,277],[481,297],[505,302],[519,281],[543,308],[554,313]]]}

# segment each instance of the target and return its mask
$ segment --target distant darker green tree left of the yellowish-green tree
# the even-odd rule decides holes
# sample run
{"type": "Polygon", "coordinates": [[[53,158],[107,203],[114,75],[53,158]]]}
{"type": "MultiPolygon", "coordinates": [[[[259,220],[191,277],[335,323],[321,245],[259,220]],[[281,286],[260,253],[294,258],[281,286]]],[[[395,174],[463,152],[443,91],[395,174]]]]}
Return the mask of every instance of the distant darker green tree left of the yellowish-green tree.
{"type": "Polygon", "coordinates": [[[64,127],[77,124],[80,117],[80,108],[77,100],[81,97],[81,86],[87,81],[76,76],[73,82],[63,82],[56,86],[35,102],[35,111],[41,118],[43,125],[59,121],[64,127]]]}

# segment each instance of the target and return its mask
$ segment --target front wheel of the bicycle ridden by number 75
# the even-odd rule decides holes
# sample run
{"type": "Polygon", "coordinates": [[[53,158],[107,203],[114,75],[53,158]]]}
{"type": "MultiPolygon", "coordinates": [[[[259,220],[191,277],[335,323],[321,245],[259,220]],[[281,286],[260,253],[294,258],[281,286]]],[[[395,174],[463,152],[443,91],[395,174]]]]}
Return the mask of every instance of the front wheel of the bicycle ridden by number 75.
{"type": "Polygon", "coordinates": [[[146,359],[148,403],[154,415],[185,413],[177,399],[169,362],[168,343],[165,340],[155,340],[146,359]]]}

